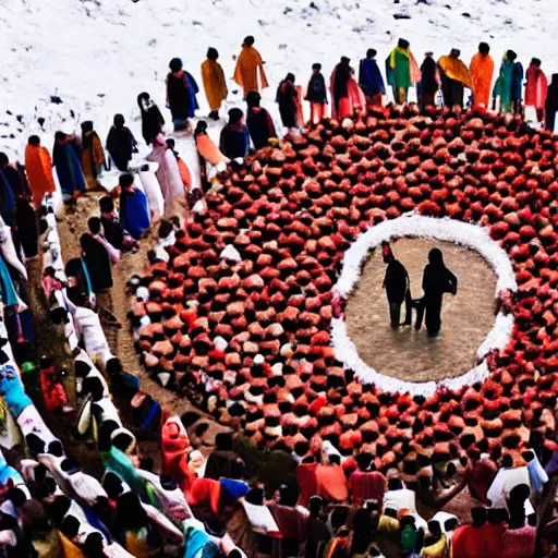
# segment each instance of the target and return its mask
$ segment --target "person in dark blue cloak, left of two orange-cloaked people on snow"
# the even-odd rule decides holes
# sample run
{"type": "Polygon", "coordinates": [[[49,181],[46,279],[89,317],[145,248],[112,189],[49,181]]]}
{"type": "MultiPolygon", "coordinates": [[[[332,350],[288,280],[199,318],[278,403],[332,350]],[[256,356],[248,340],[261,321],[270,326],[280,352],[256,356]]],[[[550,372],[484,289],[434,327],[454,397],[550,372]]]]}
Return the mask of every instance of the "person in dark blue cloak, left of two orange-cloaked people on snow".
{"type": "Polygon", "coordinates": [[[167,75],[167,107],[172,114],[174,131],[187,130],[189,120],[194,117],[198,109],[196,95],[197,83],[183,70],[182,60],[173,58],[169,63],[170,72],[167,75]]]}

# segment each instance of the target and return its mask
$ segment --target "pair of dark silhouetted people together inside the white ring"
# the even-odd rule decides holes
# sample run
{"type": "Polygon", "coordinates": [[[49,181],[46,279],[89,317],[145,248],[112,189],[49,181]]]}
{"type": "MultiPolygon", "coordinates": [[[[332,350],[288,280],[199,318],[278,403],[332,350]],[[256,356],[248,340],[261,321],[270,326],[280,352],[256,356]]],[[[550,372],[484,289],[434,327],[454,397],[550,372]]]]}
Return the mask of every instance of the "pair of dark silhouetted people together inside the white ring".
{"type": "Polygon", "coordinates": [[[405,303],[405,326],[412,323],[412,308],[416,308],[415,328],[422,327],[425,316],[426,330],[430,337],[438,335],[441,327],[441,304],[444,294],[449,292],[457,294],[458,279],[446,267],[444,255],[439,248],[432,248],[428,253],[428,264],[423,272],[422,299],[413,300],[411,296],[411,282],[409,272],[401,262],[399,262],[389,244],[383,247],[384,263],[387,264],[386,276],[384,278],[384,288],[389,304],[389,317],[391,327],[400,326],[401,305],[405,303]]]}

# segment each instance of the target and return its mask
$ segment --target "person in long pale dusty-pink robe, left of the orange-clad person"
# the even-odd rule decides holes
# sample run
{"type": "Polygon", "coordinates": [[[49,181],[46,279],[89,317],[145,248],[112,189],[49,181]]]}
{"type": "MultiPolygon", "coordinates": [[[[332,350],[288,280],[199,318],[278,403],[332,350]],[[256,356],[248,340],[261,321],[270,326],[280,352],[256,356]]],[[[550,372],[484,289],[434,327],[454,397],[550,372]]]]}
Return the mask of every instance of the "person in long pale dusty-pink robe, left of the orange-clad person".
{"type": "Polygon", "coordinates": [[[184,184],[180,175],[179,165],[172,150],[167,147],[162,134],[159,134],[153,142],[153,151],[147,160],[159,163],[156,175],[161,186],[165,198],[165,215],[170,217],[177,215],[179,206],[184,206],[184,184]]]}

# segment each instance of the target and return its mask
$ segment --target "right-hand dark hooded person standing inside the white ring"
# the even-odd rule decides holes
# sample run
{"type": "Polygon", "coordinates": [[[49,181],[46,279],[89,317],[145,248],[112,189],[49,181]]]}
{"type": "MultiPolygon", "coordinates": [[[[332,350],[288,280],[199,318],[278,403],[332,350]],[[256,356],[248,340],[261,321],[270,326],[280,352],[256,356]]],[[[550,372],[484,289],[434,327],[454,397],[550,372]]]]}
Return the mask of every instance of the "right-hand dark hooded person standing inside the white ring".
{"type": "Polygon", "coordinates": [[[426,329],[436,336],[441,327],[441,302],[444,293],[457,294],[458,279],[444,264],[441,251],[433,248],[428,253],[428,264],[423,275],[424,305],[426,311],[426,329]]]}

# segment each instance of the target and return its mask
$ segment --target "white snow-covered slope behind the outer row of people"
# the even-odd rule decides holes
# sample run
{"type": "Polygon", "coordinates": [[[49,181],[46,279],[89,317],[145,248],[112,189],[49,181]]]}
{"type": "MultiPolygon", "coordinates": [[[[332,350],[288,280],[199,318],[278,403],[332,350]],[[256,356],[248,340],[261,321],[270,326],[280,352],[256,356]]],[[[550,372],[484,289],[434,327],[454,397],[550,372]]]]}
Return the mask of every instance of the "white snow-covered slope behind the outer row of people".
{"type": "MultiPolygon", "coordinates": [[[[165,107],[172,57],[199,78],[207,47],[216,47],[230,78],[245,35],[266,61],[264,100],[274,106],[288,71],[304,85],[316,61],[326,76],[340,56],[356,63],[368,47],[383,61],[398,37],[418,61],[426,50],[438,57],[458,47],[469,62],[487,40],[497,61],[513,48],[524,64],[542,58],[550,74],[557,28],[556,0],[0,0],[0,150],[21,154],[32,132],[50,147],[56,130],[76,131],[86,119],[105,137],[116,112],[140,136],[136,96],[147,90],[165,107]]],[[[199,101],[206,114],[203,93],[199,101]]],[[[230,80],[229,102],[240,101],[230,80]]]]}

